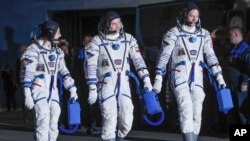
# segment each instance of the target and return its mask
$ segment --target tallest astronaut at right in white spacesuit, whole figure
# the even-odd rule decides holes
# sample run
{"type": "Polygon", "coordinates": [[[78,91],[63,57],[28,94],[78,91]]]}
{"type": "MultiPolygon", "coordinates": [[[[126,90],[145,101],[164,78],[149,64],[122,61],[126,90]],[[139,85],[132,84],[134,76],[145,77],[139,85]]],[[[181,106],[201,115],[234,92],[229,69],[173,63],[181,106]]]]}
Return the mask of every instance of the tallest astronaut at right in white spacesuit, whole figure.
{"type": "Polygon", "coordinates": [[[153,91],[159,93],[162,77],[165,72],[169,73],[185,141],[196,141],[200,132],[202,104],[205,98],[203,68],[200,64],[204,62],[204,57],[219,86],[225,87],[210,33],[201,28],[198,6],[189,2],[177,18],[177,26],[171,28],[163,37],[153,86],[153,91]]]}

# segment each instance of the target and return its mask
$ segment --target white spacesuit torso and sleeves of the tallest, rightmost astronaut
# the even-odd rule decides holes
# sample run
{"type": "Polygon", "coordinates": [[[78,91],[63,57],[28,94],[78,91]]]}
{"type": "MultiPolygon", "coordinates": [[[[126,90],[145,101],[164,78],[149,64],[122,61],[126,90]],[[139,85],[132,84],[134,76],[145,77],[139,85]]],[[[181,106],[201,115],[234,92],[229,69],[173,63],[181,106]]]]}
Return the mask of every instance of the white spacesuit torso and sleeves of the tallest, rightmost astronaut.
{"type": "Polygon", "coordinates": [[[217,64],[218,60],[212,49],[210,34],[207,30],[199,32],[183,32],[178,27],[167,32],[163,39],[162,56],[157,68],[164,68],[168,61],[168,72],[176,88],[183,83],[203,88],[203,68],[200,62],[204,62],[204,54],[208,64],[217,64]]]}

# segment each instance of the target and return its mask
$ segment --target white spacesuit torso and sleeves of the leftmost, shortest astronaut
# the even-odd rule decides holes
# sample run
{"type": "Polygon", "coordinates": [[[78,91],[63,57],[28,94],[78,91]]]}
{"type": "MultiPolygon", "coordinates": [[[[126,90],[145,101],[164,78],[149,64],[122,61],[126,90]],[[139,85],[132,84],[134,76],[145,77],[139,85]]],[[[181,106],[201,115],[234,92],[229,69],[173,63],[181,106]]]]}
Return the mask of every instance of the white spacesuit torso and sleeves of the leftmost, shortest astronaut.
{"type": "Polygon", "coordinates": [[[66,89],[74,86],[72,78],[67,78],[69,71],[65,66],[64,53],[58,47],[51,50],[41,46],[42,41],[33,43],[24,52],[21,60],[23,64],[23,85],[31,87],[35,103],[42,99],[59,102],[57,89],[57,74],[63,76],[66,89]],[[71,79],[71,80],[69,80],[71,79]]]}

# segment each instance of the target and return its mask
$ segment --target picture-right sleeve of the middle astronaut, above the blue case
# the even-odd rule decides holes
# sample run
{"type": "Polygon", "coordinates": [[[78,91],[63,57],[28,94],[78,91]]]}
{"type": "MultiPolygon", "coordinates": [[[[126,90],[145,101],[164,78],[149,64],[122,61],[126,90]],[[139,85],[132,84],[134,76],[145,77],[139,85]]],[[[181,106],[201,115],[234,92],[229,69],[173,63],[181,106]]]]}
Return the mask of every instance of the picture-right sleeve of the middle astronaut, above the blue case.
{"type": "Polygon", "coordinates": [[[141,80],[143,80],[145,77],[149,76],[147,66],[141,55],[136,39],[132,35],[128,36],[127,38],[130,44],[129,56],[135,66],[138,76],[140,77],[141,80]]]}

